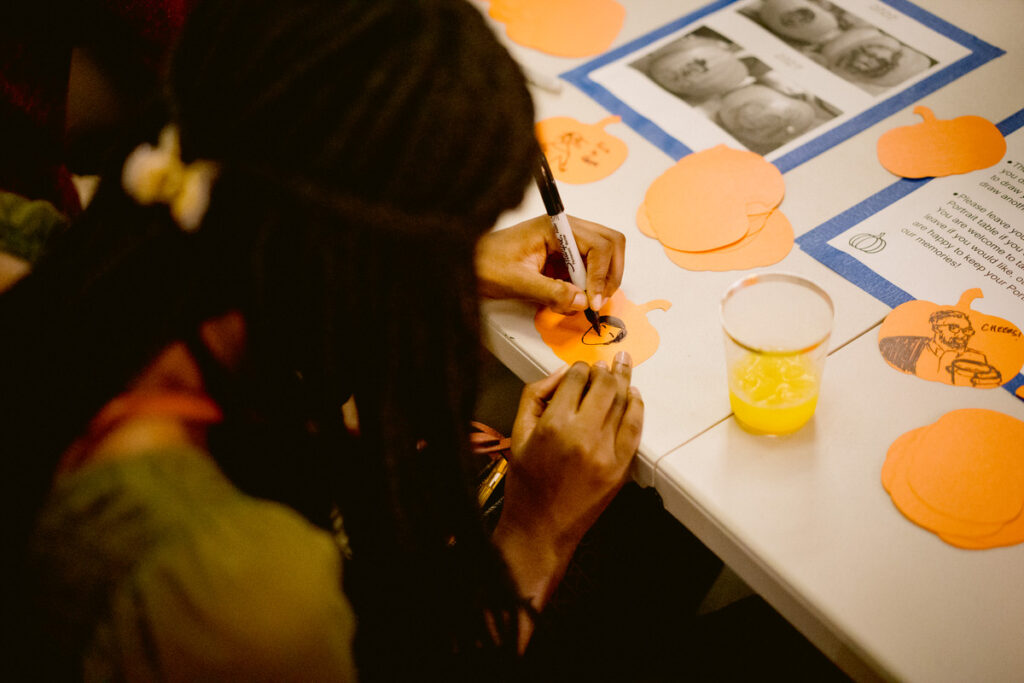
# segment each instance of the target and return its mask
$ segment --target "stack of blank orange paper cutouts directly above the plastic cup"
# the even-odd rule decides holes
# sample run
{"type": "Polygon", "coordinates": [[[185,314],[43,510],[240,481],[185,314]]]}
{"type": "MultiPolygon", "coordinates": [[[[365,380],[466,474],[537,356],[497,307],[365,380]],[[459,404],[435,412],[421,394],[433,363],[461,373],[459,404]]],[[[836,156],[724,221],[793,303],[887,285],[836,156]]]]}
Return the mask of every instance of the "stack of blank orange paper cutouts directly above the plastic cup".
{"type": "Polygon", "coordinates": [[[637,226],[687,270],[741,270],[793,249],[785,183],[761,155],[724,144],[680,159],[644,196],[637,226]]]}

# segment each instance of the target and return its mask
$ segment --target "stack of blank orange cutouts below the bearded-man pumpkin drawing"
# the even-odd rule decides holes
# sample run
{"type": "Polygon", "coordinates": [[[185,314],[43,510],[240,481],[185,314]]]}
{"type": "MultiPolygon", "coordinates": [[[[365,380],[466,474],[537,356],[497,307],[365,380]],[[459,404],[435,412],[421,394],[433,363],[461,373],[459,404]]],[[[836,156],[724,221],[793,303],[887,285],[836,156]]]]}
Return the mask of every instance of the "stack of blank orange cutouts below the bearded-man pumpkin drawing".
{"type": "Polygon", "coordinates": [[[910,521],[959,548],[1024,541],[1024,422],[963,409],[889,446],[882,483],[910,521]]]}

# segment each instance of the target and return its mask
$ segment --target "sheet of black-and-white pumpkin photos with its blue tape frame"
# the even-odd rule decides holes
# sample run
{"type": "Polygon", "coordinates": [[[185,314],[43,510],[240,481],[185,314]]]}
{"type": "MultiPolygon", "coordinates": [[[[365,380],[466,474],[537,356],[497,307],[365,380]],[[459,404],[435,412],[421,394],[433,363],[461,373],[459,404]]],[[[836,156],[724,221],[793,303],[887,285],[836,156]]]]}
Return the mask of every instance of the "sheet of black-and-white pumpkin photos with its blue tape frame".
{"type": "Polygon", "coordinates": [[[882,0],[718,2],[563,77],[672,157],[725,144],[785,169],[955,78],[973,48],[925,18],[882,0]]]}

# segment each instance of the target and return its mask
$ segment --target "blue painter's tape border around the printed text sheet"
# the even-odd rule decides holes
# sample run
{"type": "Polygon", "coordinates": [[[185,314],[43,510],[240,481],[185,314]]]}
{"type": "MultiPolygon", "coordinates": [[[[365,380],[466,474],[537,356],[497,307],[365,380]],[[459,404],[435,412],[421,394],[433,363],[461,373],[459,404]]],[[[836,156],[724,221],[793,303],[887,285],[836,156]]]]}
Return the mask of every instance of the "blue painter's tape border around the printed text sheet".
{"type": "MultiPolygon", "coordinates": [[[[995,125],[1004,136],[1018,130],[1024,126],[1024,109],[1007,117],[995,125]]],[[[934,179],[921,178],[912,180],[901,178],[888,187],[868,197],[860,204],[854,205],[835,218],[826,220],[814,229],[800,236],[796,242],[800,245],[802,251],[843,275],[879,301],[895,308],[901,303],[912,300],[914,297],[896,287],[859,260],[836,249],[828,244],[828,241],[934,179]]],[[[1019,386],[1024,386],[1024,374],[1020,374],[1007,384],[1004,384],[1002,388],[1014,393],[1019,386]]]]}

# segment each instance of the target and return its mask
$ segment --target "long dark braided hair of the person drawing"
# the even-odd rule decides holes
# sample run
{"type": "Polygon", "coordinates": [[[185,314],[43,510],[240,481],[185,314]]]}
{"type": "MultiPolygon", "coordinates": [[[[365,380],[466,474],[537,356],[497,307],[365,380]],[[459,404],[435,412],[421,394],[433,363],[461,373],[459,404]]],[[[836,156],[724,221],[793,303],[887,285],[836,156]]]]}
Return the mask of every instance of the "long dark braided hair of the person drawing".
{"type": "Polygon", "coordinates": [[[0,298],[8,545],[99,407],[170,341],[203,360],[199,325],[241,310],[244,367],[203,362],[227,416],[210,450],[314,521],[340,506],[360,675],[494,679],[518,598],[469,492],[473,250],[529,178],[521,73],[462,0],[209,0],[166,104],[139,132],[169,117],[186,161],[221,165],[200,230],[105,182],[0,298]]]}

